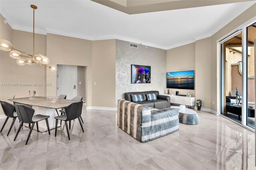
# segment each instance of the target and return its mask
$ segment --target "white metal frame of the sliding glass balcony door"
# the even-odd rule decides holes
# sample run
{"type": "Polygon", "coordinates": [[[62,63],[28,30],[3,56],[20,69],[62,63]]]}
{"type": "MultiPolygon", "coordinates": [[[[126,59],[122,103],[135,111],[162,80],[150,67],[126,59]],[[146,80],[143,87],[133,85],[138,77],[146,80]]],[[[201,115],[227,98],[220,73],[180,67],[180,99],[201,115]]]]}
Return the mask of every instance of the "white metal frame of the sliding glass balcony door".
{"type": "MultiPolygon", "coordinates": [[[[256,20],[252,21],[252,22],[249,22],[247,23],[246,25],[240,27],[240,29],[237,29],[235,32],[229,34],[228,36],[225,36],[225,38],[223,38],[222,40],[219,40],[217,41],[217,51],[218,51],[218,61],[217,61],[217,64],[219,65],[217,67],[217,70],[219,70],[219,73],[218,73],[218,76],[219,76],[219,81],[217,81],[217,83],[219,83],[219,89],[217,89],[218,93],[219,93],[219,106],[220,107],[217,107],[219,108],[218,111],[220,112],[220,116],[252,131],[252,132],[255,132],[255,129],[254,128],[251,128],[247,125],[247,106],[248,106],[248,103],[247,103],[247,99],[248,99],[248,94],[247,94],[247,89],[248,89],[248,40],[247,40],[247,28],[249,26],[251,26],[252,24],[254,24],[256,22],[256,20]],[[224,91],[222,90],[223,89],[223,86],[224,86],[224,73],[222,71],[222,68],[223,68],[223,55],[224,55],[224,45],[223,43],[227,40],[229,40],[230,38],[236,36],[237,34],[240,34],[240,32],[242,32],[242,103],[246,103],[246,105],[242,105],[242,122],[241,123],[238,123],[224,115],[222,115],[223,111],[224,111],[224,102],[222,101],[224,99],[224,91]],[[246,107],[244,107],[246,106],[246,107]]],[[[255,46],[255,44],[254,44],[255,46]]],[[[255,65],[256,65],[256,60],[254,60],[255,62],[255,65]]],[[[256,67],[254,67],[254,71],[256,73],[256,67]]],[[[218,80],[218,79],[217,79],[218,80]]],[[[255,82],[256,82],[256,79],[255,79],[255,82]]],[[[255,91],[256,91],[256,84],[255,84],[255,91]]],[[[256,95],[256,94],[255,94],[256,95]]],[[[226,96],[226,95],[225,95],[226,96]]],[[[255,96],[256,97],[256,96],[255,96]]],[[[255,126],[256,127],[256,126],[255,126]]]]}

